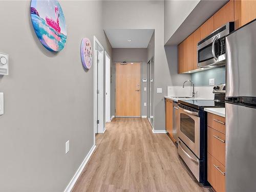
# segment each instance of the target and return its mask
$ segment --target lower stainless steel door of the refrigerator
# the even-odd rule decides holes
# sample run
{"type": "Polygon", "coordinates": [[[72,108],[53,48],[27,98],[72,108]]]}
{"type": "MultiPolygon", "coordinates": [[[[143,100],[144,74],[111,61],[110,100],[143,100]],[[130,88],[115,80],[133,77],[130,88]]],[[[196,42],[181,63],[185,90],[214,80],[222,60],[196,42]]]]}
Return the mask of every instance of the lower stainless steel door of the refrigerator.
{"type": "Polygon", "coordinates": [[[256,191],[256,109],[226,103],[226,192],[256,191]]]}

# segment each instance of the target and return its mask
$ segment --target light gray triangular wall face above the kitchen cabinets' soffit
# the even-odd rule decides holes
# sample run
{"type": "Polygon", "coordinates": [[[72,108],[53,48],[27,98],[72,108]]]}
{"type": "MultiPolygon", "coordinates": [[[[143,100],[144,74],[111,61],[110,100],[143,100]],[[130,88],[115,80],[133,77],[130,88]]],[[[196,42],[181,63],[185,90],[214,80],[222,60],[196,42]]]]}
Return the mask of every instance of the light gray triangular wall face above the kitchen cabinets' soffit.
{"type": "Polygon", "coordinates": [[[200,1],[201,0],[164,0],[164,44],[175,33],[200,1]]]}

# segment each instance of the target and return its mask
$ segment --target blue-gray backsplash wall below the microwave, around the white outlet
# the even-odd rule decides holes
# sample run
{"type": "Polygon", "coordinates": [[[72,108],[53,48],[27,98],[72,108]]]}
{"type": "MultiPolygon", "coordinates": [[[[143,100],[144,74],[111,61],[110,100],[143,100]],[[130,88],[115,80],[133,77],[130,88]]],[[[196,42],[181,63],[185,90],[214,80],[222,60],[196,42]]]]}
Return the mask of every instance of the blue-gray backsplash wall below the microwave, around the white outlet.
{"type": "Polygon", "coordinates": [[[196,86],[209,86],[209,79],[215,78],[215,84],[225,83],[225,67],[209,69],[191,74],[191,80],[196,86]]]}

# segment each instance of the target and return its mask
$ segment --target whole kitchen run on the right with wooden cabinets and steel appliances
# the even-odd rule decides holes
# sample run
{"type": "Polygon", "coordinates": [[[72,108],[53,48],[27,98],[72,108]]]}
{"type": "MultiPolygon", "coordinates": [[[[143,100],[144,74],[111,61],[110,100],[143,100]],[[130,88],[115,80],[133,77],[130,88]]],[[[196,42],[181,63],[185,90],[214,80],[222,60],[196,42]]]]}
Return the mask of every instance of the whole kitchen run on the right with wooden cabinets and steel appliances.
{"type": "Polygon", "coordinates": [[[178,73],[191,73],[192,80],[168,86],[165,96],[167,135],[198,182],[217,192],[256,189],[249,158],[255,144],[256,20],[245,7],[229,1],[178,45],[178,73]],[[222,82],[194,84],[194,74],[217,69],[225,71],[222,82]]]}

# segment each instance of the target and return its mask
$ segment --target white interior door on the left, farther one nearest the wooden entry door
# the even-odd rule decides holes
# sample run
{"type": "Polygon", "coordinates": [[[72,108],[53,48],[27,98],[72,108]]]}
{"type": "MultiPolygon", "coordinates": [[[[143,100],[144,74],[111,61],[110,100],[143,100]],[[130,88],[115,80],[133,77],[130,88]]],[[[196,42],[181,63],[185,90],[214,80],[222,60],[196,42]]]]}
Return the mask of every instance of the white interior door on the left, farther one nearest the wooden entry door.
{"type": "Polygon", "coordinates": [[[110,56],[105,52],[105,120],[110,122],[110,56]]]}

